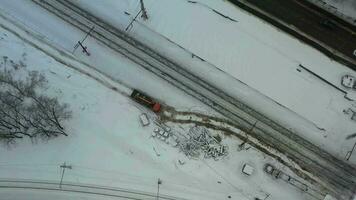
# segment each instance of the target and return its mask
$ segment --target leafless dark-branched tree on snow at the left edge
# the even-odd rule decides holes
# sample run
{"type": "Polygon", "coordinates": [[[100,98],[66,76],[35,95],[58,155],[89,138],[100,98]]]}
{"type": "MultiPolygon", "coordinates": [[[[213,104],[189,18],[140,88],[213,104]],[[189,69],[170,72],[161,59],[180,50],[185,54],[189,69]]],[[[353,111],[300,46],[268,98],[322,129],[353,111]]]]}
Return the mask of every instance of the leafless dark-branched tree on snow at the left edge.
{"type": "Polygon", "coordinates": [[[46,86],[42,74],[1,68],[0,66],[0,140],[14,143],[16,139],[50,139],[68,134],[62,125],[71,117],[67,104],[41,94],[46,86]]]}

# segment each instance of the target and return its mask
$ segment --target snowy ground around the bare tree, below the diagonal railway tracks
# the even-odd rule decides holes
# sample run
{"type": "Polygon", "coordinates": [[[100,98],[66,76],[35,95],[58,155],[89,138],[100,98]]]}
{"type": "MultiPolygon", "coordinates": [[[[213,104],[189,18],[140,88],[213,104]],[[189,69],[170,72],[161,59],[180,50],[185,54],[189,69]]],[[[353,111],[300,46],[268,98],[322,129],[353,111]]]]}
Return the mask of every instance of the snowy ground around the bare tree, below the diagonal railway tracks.
{"type": "MultiPolygon", "coordinates": [[[[43,12],[37,14],[40,16],[43,12]]],[[[142,110],[126,96],[130,90],[125,84],[117,83],[121,81],[117,78],[120,76],[113,74],[116,77],[114,81],[112,77],[104,76],[93,66],[88,66],[73,57],[70,51],[63,48],[66,44],[65,40],[59,40],[63,42],[57,45],[55,41],[49,42],[42,34],[32,35],[31,32],[20,30],[3,18],[0,18],[0,24],[1,58],[7,56],[14,63],[22,61],[27,65],[26,70],[38,70],[45,74],[49,81],[47,92],[69,103],[73,110],[73,119],[66,124],[70,136],[59,137],[48,142],[32,143],[23,140],[10,148],[1,146],[1,178],[59,181],[61,175],[59,165],[66,162],[73,168],[66,171],[64,181],[76,183],[154,193],[157,179],[160,178],[163,181],[160,188],[162,194],[188,199],[253,199],[253,197],[264,198],[268,194],[273,199],[311,198],[281,180],[273,180],[264,173],[262,168],[267,162],[282,167],[270,157],[254,148],[237,152],[237,145],[241,141],[236,138],[224,137],[223,143],[229,146],[231,153],[219,162],[187,159],[176,148],[150,137],[155,125],[141,127],[138,116],[147,111],[142,110]],[[118,88],[118,91],[112,90],[113,87],[118,88]],[[185,164],[179,164],[178,160],[184,161],[185,164]],[[256,168],[251,177],[241,173],[245,162],[256,168]]],[[[78,33],[70,27],[68,30],[57,30],[59,33],[61,31],[73,34],[72,37],[78,33]]],[[[107,49],[104,51],[104,48],[99,45],[97,49],[109,52],[107,49]]],[[[195,99],[182,94],[170,85],[165,85],[149,73],[140,71],[138,66],[120,55],[113,52],[106,55],[111,59],[108,59],[105,65],[131,70],[124,71],[128,76],[122,76],[124,82],[131,80],[130,84],[137,85],[145,83],[148,88],[154,87],[155,90],[164,91],[162,96],[167,96],[164,98],[165,102],[179,109],[200,110],[216,115],[195,99]],[[133,74],[140,74],[140,79],[133,79],[132,77],[135,77],[133,74]]],[[[96,63],[92,62],[92,64],[96,63]]],[[[99,66],[103,66],[103,63],[99,66]]],[[[104,71],[109,69],[118,73],[113,68],[104,68],[104,71]]],[[[162,96],[160,98],[163,98],[162,96]]],[[[187,131],[189,127],[190,125],[182,125],[180,131],[187,131]]],[[[284,170],[295,176],[289,170],[284,170]]],[[[63,198],[62,193],[55,192],[51,194],[21,192],[18,196],[7,196],[11,193],[12,191],[6,190],[1,191],[0,194],[6,195],[8,199],[25,195],[29,195],[28,198],[48,197],[48,195],[63,198]]],[[[75,197],[82,196],[74,195],[73,198],[75,197]]]]}

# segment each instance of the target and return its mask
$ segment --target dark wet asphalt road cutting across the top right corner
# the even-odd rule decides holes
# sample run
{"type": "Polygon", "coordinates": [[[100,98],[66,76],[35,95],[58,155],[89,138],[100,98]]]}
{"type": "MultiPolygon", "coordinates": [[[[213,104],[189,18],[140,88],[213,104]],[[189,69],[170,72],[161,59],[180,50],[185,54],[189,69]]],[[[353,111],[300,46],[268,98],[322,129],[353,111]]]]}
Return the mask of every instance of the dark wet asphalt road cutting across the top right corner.
{"type": "Polygon", "coordinates": [[[229,0],[356,71],[356,27],[306,0],[229,0]],[[332,20],[334,30],[320,25],[332,20]]]}

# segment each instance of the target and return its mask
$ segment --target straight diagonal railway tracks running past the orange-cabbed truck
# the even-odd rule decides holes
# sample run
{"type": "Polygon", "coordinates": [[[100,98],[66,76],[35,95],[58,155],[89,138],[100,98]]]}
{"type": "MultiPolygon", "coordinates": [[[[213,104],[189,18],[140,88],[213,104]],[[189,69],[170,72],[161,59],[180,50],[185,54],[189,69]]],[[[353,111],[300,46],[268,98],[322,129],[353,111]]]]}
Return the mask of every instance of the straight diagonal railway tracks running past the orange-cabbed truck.
{"type": "Polygon", "coordinates": [[[95,25],[91,36],[97,41],[215,109],[242,130],[251,130],[254,126],[253,131],[249,132],[253,137],[283,152],[289,159],[318,177],[320,181],[307,174],[304,176],[325,185],[328,191],[339,199],[348,199],[353,195],[356,181],[354,167],[271,121],[73,3],[66,0],[32,1],[84,32],[95,25]]]}

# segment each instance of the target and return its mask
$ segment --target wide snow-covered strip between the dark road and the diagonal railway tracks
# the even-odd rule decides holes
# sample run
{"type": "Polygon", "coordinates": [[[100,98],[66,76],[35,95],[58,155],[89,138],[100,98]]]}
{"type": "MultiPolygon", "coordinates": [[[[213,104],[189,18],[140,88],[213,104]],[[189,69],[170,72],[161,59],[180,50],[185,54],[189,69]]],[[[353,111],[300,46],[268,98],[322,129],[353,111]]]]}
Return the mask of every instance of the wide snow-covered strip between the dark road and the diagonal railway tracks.
{"type": "MultiPolygon", "coordinates": [[[[78,2],[122,29],[140,10],[139,1],[78,2]]],[[[340,81],[342,75],[355,72],[230,3],[197,2],[146,0],[150,18],[135,22],[130,35],[344,159],[355,142],[345,137],[354,132],[356,123],[343,110],[356,110],[355,105],[300,65],[354,99],[355,91],[346,90],[340,81]],[[192,54],[210,64],[194,61],[189,58],[192,54]]]]}

